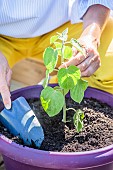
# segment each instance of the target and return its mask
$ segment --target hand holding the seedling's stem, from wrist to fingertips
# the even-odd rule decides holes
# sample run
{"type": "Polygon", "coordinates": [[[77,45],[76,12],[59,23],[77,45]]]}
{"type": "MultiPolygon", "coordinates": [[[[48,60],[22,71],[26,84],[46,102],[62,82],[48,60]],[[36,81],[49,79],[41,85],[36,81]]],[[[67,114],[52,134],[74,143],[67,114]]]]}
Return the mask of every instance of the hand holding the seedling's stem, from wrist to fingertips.
{"type": "Polygon", "coordinates": [[[83,48],[84,55],[73,47],[73,57],[69,61],[63,63],[60,68],[75,65],[80,68],[82,77],[89,77],[101,65],[97,44],[90,36],[80,37],[78,42],[83,48]]]}

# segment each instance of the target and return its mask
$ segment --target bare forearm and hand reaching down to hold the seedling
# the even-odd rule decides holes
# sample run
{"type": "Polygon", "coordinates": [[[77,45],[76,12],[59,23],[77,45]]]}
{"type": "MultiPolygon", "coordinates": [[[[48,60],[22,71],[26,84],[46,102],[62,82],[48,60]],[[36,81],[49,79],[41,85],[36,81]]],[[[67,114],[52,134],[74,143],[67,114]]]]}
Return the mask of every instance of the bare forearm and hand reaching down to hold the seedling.
{"type": "Polygon", "coordinates": [[[100,67],[98,46],[100,37],[108,21],[110,9],[95,4],[88,8],[83,16],[83,32],[78,42],[83,47],[84,55],[73,48],[73,57],[60,68],[75,65],[80,68],[81,76],[89,77],[100,67]]]}

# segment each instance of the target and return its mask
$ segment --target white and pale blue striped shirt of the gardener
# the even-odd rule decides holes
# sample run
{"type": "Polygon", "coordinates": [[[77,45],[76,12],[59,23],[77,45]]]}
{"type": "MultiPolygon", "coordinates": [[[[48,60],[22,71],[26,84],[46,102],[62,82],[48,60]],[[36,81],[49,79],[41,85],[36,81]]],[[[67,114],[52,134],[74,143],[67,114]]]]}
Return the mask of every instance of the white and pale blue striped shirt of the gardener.
{"type": "Polygon", "coordinates": [[[43,35],[71,21],[82,21],[92,4],[113,9],[112,0],[0,0],[0,34],[17,38],[43,35]]]}

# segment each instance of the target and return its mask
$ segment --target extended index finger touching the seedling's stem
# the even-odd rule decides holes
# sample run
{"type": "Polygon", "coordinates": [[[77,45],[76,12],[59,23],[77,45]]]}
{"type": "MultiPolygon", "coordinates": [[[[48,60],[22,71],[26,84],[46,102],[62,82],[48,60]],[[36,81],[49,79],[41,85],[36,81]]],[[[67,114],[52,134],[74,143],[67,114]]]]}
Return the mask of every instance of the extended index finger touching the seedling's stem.
{"type": "Polygon", "coordinates": [[[80,52],[74,57],[72,57],[69,61],[63,63],[60,68],[65,68],[68,67],[70,65],[79,65],[81,62],[83,62],[85,60],[86,56],[82,55],[80,52]]]}

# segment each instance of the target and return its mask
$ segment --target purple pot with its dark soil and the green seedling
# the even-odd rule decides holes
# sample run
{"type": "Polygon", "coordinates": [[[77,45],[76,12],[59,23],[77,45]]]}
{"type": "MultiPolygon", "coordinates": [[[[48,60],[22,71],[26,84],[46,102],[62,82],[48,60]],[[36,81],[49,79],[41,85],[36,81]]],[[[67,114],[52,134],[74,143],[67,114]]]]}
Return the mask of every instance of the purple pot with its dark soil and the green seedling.
{"type": "MultiPolygon", "coordinates": [[[[0,152],[7,170],[113,169],[113,96],[87,88],[87,82],[81,79],[80,70],[75,66],[55,69],[58,55],[61,56],[61,62],[72,56],[71,46],[85,55],[76,40],[67,41],[67,33],[68,29],[51,37],[50,43],[55,49],[48,47],[44,52],[44,64],[47,68],[44,88],[37,85],[12,92],[12,100],[23,96],[32,109],[35,108],[44,128],[45,141],[38,149],[23,146],[5,136],[5,129],[5,133],[0,135],[0,152]],[[49,74],[53,70],[58,72],[58,84],[48,86],[49,74]],[[44,111],[39,98],[47,114],[41,113],[44,111]],[[34,103],[30,103],[32,101],[34,103]]],[[[0,108],[2,110],[2,103],[0,108]]]]}

